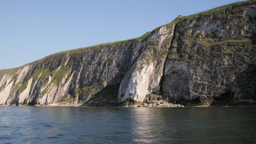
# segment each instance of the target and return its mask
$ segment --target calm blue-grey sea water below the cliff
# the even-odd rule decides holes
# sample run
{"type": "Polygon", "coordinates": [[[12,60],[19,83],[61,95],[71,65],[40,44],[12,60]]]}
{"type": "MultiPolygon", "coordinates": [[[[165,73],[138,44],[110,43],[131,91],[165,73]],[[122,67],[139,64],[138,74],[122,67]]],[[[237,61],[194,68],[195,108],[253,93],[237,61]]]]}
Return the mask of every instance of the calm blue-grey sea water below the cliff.
{"type": "Polygon", "coordinates": [[[256,143],[256,107],[0,106],[0,143],[256,143]]]}

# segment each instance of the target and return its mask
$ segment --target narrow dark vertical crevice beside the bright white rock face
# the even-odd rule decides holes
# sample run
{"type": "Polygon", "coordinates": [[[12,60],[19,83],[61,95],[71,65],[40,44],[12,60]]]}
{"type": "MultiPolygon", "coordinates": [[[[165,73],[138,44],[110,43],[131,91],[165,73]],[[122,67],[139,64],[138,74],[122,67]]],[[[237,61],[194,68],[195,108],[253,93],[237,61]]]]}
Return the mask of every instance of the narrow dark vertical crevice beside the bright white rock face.
{"type": "Polygon", "coordinates": [[[161,79],[160,79],[160,82],[159,82],[159,85],[160,85],[159,94],[160,95],[163,95],[162,83],[164,82],[164,78],[165,78],[165,67],[166,67],[166,62],[168,60],[168,56],[170,54],[171,47],[173,45],[173,41],[174,41],[175,34],[176,34],[176,29],[177,29],[177,24],[174,25],[173,32],[172,32],[172,38],[171,38],[171,44],[170,44],[170,47],[168,48],[168,53],[167,53],[166,58],[165,58],[164,68],[162,69],[162,76],[161,76],[161,79]]]}

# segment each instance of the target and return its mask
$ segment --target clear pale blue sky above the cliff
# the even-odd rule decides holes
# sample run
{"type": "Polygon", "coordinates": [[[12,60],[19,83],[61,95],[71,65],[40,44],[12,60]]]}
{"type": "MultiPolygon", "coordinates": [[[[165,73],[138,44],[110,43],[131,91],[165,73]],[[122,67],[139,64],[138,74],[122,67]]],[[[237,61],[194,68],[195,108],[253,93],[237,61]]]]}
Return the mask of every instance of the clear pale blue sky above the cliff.
{"type": "Polygon", "coordinates": [[[56,52],[136,38],[171,22],[237,0],[0,1],[0,69],[56,52]]]}

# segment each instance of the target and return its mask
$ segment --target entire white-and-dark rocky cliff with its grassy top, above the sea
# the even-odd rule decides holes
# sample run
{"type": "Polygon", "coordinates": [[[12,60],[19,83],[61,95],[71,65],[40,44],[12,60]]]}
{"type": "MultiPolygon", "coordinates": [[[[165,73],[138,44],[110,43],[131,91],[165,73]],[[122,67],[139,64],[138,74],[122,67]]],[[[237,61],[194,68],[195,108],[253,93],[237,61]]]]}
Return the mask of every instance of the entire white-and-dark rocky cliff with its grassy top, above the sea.
{"type": "Polygon", "coordinates": [[[0,105],[142,103],[150,93],[181,104],[253,103],[255,15],[255,1],[225,5],[2,70],[0,105]]]}

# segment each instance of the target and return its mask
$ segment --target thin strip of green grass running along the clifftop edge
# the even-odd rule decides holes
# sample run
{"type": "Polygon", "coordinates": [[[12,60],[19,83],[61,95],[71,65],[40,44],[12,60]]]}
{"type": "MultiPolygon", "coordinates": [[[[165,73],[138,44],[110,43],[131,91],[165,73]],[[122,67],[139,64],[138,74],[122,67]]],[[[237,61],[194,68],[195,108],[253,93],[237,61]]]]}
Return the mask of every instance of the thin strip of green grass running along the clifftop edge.
{"type": "MultiPolygon", "coordinates": [[[[243,4],[253,4],[253,3],[256,3],[256,0],[232,3],[232,4],[224,5],[222,7],[218,7],[218,8],[214,8],[214,9],[211,9],[211,10],[203,11],[202,13],[198,13],[198,14],[194,14],[194,15],[190,15],[190,16],[178,16],[171,23],[167,23],[166,25],[163,25],[163,26],[174,25],[174,24],[177,24],[177,23],[182,22],[184,20],[194,19],[194,18],[196,18],[198,16],[201,16],[201,15],[206,15],[207,16],[207,15],[223,13],[227,9],[238,7],[238,6],[243,5],[243,4]]],[[[160,27],[162,27],[162,26],[160,26],[160,27]]],[[[61,54],[65,54],[65,53],[69,53],[69,52],[73,52],[73,51],[79,51],[79,50],[84,50],[84,49],[88,49],[88,48],[97,48],[97,47],[100,47],[100,46],[113,45],[113,44],[118,44],[118,43],[127,43],[128,41],[131,41],[131,40],[139,40],[139,39],[143,40],[143,39],[147,38],[149,35],[153,34],[156,31],[158,31],[158,29],[160,27],[155,28],[151,32],[143,34],[141,37],[138,37],[138,38],[121,40],[121,41],[115,41],[115,42],[111,42],[111,43],[98,44],[98,45],[88,46],[88,47],[81,47],[79,49],[73,49],[73,50],[68,50],[68,51],[62,51],[62,52],[54,53],[53,55],[61,55],[61,54]]],[[[44,58],[42,58],[42,59],[44,59],[44,58]]],[[[31,62],[31,63],[33,63],[33,62],[31,62]]],[[[29,63],[29,64],[31,64],[31,63],[29,63]]],[[[27,64],[25,64],[25,65],[27,65],[27,64]]],[[[24,67],[25,65],[22,65],[21,67],[24,67]]],[[[19,68],[21,68],[21,67],[19,67],[19,68]]],[[[0,70],[0,74],[9,73],[11,70],[14,70],[14,69],[17,69],[17,68],[0,70]]]]}

